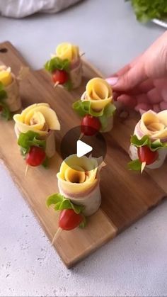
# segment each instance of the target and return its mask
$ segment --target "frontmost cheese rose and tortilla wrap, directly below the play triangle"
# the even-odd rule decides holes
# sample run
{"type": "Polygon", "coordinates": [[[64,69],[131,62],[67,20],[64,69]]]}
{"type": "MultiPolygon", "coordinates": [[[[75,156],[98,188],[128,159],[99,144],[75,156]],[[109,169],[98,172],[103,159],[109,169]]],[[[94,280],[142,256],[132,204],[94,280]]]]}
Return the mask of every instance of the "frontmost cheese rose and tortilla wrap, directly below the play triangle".
{"type": "Polygon", "coordinates": [[[76,205],[84,206],[84,215],[98,211],[101,203],[98,163],[95,158],[71,155],[57,173],[59,193],[76,205]]]}

